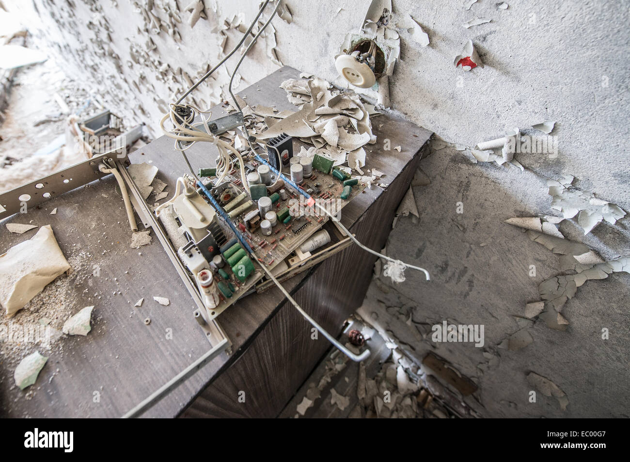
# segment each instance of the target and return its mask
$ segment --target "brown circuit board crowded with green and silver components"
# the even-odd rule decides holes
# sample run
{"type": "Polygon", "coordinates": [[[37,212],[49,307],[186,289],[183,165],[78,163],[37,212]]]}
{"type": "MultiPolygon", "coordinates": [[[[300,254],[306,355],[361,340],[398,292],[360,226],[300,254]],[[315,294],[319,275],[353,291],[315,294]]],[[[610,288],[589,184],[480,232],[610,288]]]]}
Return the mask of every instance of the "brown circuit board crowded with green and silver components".
{"type": "MultiPolygon", "coordinates": [[[[250,161],[248,164],[249,168],[256,168],[256,166],[260,165],[256,161],[250,161]]],[[[309,193],[319,205],[326,208],[333,216],[337,216],[348,202],[364,191],[367,185],[365,183],[357,183],[357,185],[352,187],[347,199],[341,199],[340,196],[344,188],[343,182],[331,173],[313,170],[312,175],[309,178],[304,178],[299,187],[309,193]]],[[[275,176],[272,176],[272,178],[275,180],[275,176]]],[[[208,187],[212,187],[212,178],[210,178],[208,187]]],[[[222,187],[222,192],[217,193],[215,197],[222,207],[229,204],[229,201],[234,197],[245,192],[238,170],[231,171],[226,176],[226,182],[222,183],[222,187]]],[[[285,199],[280,197],[277,202],[272,204],[271,210],[280,216],[280,212],[285,211],[286,214],[288,209],[289,214],[284,220],[277,220],[277,224],[272,227],[271,234],[263,234],[260,226],[249,226],[248,217],[258,216],[256,213],[258,211],[256,200],[253,200],[253,203],[247,209],[232,217],[232,223],[241,231],[244,239],[254,251],[258,262],[261,265],[265,265],[272,271],[272,274],[274,268],[284,262],[287,257],[290,257],[302,243],[319,231],[329,219],[329,216],[321,211],[319,207],[314,205],[309,207],[306,198],[297,192],[292,185],[287,183],[282,188],[285,191],[285,199]]],[[[249,197],[246,197],[245,200],[247,199],[249,197]]],[[[226,234],[228,241],[236,237],[231,228],[224,222],[221,222],[221,228],[226,234]]],[[[221,294],[221,302],[215,308],[208,310],[210,320],[221,315],[239,297],[253,290],[255,284],[264,276],[263,270],[258,268],[246,280],[240,281],[230,265],[224,265],[223,271],[227,274],[228,279],[225,280],[222,277],[223,280],[220,282],[223,282],[224,285],[229,284],[232,293],[229,297],[226,296],[227,292],[221,294]]]]}

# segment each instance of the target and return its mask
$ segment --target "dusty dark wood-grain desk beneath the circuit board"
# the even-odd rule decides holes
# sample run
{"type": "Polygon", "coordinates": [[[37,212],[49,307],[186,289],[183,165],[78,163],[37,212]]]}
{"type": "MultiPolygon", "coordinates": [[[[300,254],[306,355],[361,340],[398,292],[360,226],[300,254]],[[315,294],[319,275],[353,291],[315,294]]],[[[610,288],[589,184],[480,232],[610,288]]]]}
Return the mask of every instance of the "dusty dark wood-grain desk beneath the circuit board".
{"type": "MultiPolygon", "coordinates": [[[[298,76],[299,71],[283,67],[239,95],[250,105],[294,109],[279,85],[298,76]]],[[[215,108],[212,117],[220,115],[221,108],[215,108]]],[[[389,187],[365,190],[343,209],[341,221],[360,241],[380,250],[431,133],[391,115],[375,117],[372,126],[379,141],[366,146],[366,168],[384,172],[382,182],[389,187]],[[402,146],[401,153],[382,151],[385,138],[392,148],[402,146]]],[[[187,152],[195,169],[214,165],[216,153],[210,146],[198,144],[187,152]]],[[[166,137],[130,154],[130,159],[157,166],[169,193],[175,190],[176,178],[188,171],[166,137]]],[[[0,358],[1,415],[120,417],[209,349],[193,318],[192,300],[159,242],[129,247],[131,233],[114,185],[111,177],[93,182],[8,220],[51,224],[66,258],[80,262],[70,276],[59,278],[69,278],[62,303],[72,305],[73,313],[84,306],[96,308],[87,337],[60,338],[51,351],[41,350],[49,361],[28,397],[29,389],[20,391],[13,382],[21,357],[0,358]],[[54,207],[57,214],[50,215],[54,207]],[[81,252],[89,255],[79,258],[81,252]],[[100,267],[98,277],[91,275],[93,265],[100,267]],[[170,305],[160,306],[153,296],[167,297],[170,305]],[[142,307],[134,308],[142,297],[142,307]],[[143,322],[147,317],[148,326],[143,322]]],[[[0,253],[36,231],[18,235],[8,233],[4,223],[1,228],[0,253]]],[[[350,246],[285,282],[285,287],[324,328],[338,335],[364,299],[374,261],[350,246]]],[[[312,326],[276,288],[245,297],[217,319],[232,341],[232,355],[215,358],[146,417],[275,417],[329,347],[321,335],[311,340],[312,326]],[[244,403],[239,402],[239,391],[244,391],[244,403]]],[[[13,321],[20,323],[20,313],[13,321]]],[[[36,349],[33,345],[28,352],[36,349]]]]}

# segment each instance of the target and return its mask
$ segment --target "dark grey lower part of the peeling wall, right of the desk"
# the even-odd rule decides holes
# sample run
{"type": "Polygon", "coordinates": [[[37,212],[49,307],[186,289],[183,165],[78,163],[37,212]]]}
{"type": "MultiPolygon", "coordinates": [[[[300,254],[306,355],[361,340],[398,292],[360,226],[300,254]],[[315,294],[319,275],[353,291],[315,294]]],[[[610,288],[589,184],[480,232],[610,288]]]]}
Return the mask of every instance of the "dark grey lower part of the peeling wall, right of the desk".
{"type": "MultiPolygon", "coordinates": [[[[630,274],[589,280],[562,310],[565,332],[542,320],[523,320],[525,305],[540,299],[538,284],[563,274],[559,255],[530,240],[523,230],[503,222],[509,217],[551,214],[546,183],[531,172],[473,164],[461,151],[445,147],[421,161],[429,185],[413,191],[420,220],[400,217],[387,243],[387,255],[425,267],[432,280],[406,270],[407,280],[392,284],[377,277],[365,297],[362,316],[386,330],[415,359],[430,351],[451,362],[479,391],[464,398],[486,417],[627,417],[629,354],[626,339],[630,274]],[[510,188],[505,187],[505,183],[510,188]],[[515,197],[514,191],[520,191],[515,197]],[[463,213],[457,214],[457,202],[463,213]],[[410,244],[413,242],[414,244],[410,244]],[[531,275],[531,267],[536,274],[531,275]],[[483,324],[484,345],[436,343],[432,326],[483,324]],[[505,340],[522,328],[533,342],[519,350],[505,340]],[[602,338],[602,328],[611,333],[602,338]],[[614,334],[612,333],[614,332],[614,334]],[[529,402],[530,372],[544,376],[566,393],[562,411],[553,397],[538,394],[529,402]]],[[[580,240],[583,231],[563,221],[560,231],[580,240]]],[[[630,254],[627,220],[600,224],[584,238],[605,259],[630,254]]]]}

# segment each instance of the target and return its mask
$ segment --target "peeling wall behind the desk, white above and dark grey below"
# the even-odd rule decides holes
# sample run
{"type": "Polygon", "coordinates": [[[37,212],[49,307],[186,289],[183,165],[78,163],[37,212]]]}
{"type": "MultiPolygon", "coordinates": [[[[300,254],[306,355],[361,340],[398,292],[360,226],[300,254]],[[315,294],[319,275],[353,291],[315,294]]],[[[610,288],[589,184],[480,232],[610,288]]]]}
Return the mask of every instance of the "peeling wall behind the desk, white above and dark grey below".
{"type": "MultiPolygon", "coordinates": [[[[205,63],[217,62],[222,38],[212,29],[239,12],[248,24],[258,6],[252,0],[207,0],[207,19],[190,28],[190,13],[179,11],[188,3],[152,2],[151,13],[164,22],[159,33],[147,27],[147,1],[34,0],[42,20],[28,21],[39,28],[38,39],[53,43],[67,59],[69,72],[93,81],[105,105],[146,122],[157,135],[156,122],[173,93],[185,88],[187,76],[205,70],[205,63]],[[179,14],[181,22],[173,14],[169,19],[168,11],[179,14]]],[[[544,180],[559,175],[575,175],[577,187],[630,209],[625,152],[630,72],[624,59],[629,11],[604,0],[513,0],[507,1],[507,10],[497,8],[500,2],[479,0],[469,11],[462,3],[394,0],[394,23],[403,25],[411,14],[431,43],[421,48],[400,30],[401,61],[391,79],[391,107],[466,147],[501,136],[506,127],[557,120],[558,156],[517,154],[525,166],[521,172],[513,166],[473,164],[452,147],[433,152],[421,166],[430,184],[414,188],[420,221],[399,220],[388,245],[391,255],[424,265],[433,280],[421,282],[421,275],[410,270],[408,281],[395,287],[380,278],[365,306],[380,313],[379,322],[416,361],[437,349],[476,381],[480,390],[466,402],[482,415],[630,415],[625,321],[630,275],[616,273],[580,287],[564,308],[570,321],[565,332],[536,321],[530,327],[531,345],[518,351],[498,348],[518,330],[514,315],[522,316],[525,303],[539,299],[537,284],[561,271],[556,255],[503,220],[551,214],[544,180]],[[492,21],[462,27],[474,17],[492,21]],[[469,39],[484,67],[462,72],[453,59],[469,39]],[[464,204],[463,214],[456,214],[456,202],[464,204]],[[535,277],[528,275],[532,264],[535,277]],[[484,349],[430,342],[427,326],[442,320],[483,323],[484,349]],[[604,327],[610,329],[609,340],[601,338],[604,327]],[[541,393],[537,403],[529,403],[530,371],[568,395],[566,411],[541,393]]],[[[287,4],[293,22],[273,21],[279,61],[334,80],[333,56],[345,33],[360,25],[369,2],[287,4]]],[[[32,14],[26,13],[30,5],[21,8],[32,14]]],[[[226,34],[229,50],[239,32],[226,34]]],[[[260,43],[239,71],[241,85],[276,68],[260,43]]],[[[227,79],[225,70],[218,72],[200,87],[197,103],[217,103],[227,79]]],[[[627,219],[614,226],[600,224],[586,237],[573,222],[563,222],[561,231],[606,259],[630,253],[627,219]]]]}

